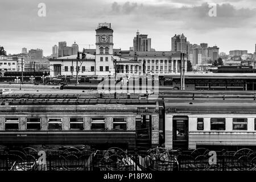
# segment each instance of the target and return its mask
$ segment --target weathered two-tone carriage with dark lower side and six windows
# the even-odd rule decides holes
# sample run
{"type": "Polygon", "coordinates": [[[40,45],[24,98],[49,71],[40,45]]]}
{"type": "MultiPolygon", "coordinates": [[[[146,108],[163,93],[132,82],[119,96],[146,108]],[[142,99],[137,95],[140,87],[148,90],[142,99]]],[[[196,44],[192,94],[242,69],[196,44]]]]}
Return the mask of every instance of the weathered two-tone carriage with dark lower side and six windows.
{"type": "Polygon", "coordinates": [[[2,96],[1,146],[158,146],[157,101],[15,97],[2,96]]]}

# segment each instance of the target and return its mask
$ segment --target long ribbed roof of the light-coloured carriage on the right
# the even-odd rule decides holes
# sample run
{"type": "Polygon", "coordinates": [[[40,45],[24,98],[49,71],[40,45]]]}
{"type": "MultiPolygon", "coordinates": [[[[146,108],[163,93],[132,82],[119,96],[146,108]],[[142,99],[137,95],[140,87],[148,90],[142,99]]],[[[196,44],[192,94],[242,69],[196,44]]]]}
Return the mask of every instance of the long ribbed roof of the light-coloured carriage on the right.
{"type": "Polygon", "coordinates": [[[255,92],[168,92],[166,113],[256,114],[255,92]]]}

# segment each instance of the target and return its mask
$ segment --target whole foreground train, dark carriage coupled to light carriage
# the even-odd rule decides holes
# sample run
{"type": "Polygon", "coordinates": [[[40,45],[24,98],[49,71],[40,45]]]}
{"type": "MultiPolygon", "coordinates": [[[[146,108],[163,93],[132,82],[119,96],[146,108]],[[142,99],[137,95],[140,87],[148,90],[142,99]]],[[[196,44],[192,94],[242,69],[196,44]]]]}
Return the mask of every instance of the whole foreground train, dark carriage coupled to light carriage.
{"type": "Polygon", "coordinates": [[[254,92],[2,94],[0,104],[0,148],[256,148],[254,92]]]}

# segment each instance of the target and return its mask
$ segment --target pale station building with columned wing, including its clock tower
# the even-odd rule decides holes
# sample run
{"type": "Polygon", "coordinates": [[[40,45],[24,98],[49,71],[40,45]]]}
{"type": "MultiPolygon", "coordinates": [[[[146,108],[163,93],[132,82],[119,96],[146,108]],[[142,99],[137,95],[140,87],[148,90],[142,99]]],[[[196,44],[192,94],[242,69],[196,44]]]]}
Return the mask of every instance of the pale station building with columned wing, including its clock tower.
{"type": "MultiPolygon", "coordinates": [[[[180,72],[181,52],[121,51],[113,49],[113,45],[110,23],[100,23],[96,30],[96,49],[84,49],[79,60],[77,55],[49,59],[51,75],[76,75],[76,72],[84,76],[108,76],[115,72],[124,75],[180,72]]],[[[187,56],[184,57],[184,70],[187,71],[187,56]]]]}

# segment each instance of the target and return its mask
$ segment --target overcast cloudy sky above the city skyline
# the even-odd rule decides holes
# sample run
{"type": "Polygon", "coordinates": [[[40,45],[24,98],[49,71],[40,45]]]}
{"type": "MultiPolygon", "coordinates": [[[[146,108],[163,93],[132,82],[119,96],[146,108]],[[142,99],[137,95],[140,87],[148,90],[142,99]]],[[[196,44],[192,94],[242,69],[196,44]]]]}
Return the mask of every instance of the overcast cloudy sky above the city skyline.
{"type": "Polygon", "coordinates": [[[148,34],[156,51],[170,51],[171,37],[181,33],[226,53],[253,53],[256,44],[255,0],[0,0],[0,16],[0,46],[7,53],[41,48],[48,56],[58,42],[71,46],[75,40],[80,50],[95,48],[99,22],[112,23],[114,47],[122,50],[133,46],[137,30],[148,34]],[[38,16],[39,3],[46,5],[45,17],[38,16]],[[212,5],[217,16],[209,16],[212,5]]]}

